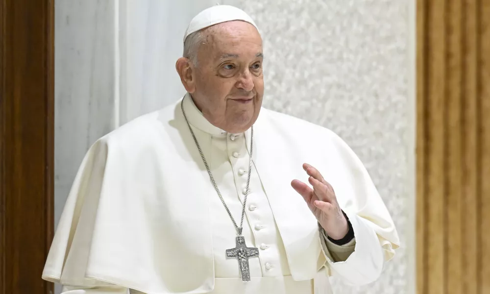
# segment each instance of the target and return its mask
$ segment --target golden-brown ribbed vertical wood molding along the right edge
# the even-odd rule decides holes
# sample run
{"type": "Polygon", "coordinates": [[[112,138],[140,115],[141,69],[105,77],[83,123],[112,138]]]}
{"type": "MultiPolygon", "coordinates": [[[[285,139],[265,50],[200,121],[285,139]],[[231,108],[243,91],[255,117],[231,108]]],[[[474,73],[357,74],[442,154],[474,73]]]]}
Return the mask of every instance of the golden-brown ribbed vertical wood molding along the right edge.
{"type": "Polygon", "coordinates": [[[490,294],[490,0],[417,0],[417,293],[490,294]]]}

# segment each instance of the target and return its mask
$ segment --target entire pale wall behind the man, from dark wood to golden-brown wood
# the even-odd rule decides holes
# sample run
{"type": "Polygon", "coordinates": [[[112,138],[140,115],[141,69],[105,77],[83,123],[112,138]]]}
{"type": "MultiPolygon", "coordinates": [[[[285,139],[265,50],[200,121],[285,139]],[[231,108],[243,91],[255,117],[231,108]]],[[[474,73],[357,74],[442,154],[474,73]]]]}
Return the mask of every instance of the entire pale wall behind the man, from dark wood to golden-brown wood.
{"type": "MultiPolygon", "coordinates": [[[[183,93],[173,68],[183,32],[215,2],[56,1],[56,222],[88,147],[183,93]]],[[[244,9],[261,29],[264,106],[342,136],[368,168],[405,245],[379,281],[359,288],[333,281],[335,294],[414,293],[413,2],[220,1],[244,9]]]]}

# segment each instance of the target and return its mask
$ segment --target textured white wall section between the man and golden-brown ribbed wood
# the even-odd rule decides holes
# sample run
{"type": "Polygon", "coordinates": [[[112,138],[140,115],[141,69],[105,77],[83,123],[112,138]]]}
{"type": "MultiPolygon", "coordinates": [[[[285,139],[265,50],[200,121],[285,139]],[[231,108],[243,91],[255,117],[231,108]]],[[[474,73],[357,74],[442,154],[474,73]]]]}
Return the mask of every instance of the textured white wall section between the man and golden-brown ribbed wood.
{"type": "Polygon", "coordinates": [[[404,244],[377,282],[334,279],[335,294],[414,293],[414,5],[240,1],[264,39],[265,107],[338,133],[367,167],[404,244]]]}

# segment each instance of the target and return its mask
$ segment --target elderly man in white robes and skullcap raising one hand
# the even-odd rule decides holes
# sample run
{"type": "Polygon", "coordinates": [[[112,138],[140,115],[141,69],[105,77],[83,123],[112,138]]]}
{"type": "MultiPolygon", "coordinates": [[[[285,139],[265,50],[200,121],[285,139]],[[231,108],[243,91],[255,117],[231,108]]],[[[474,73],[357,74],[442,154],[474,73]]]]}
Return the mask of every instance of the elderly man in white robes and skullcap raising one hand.
{"type": "Polygon", "coordinates": [[[383,201],[338,136],[261,108],[263,59],[245,12],[199,13],[176,63],[187,94],[90,148],[43,278],[65,294],[313,294],[332,274],[376,280],[399,243],[383,201]]]}

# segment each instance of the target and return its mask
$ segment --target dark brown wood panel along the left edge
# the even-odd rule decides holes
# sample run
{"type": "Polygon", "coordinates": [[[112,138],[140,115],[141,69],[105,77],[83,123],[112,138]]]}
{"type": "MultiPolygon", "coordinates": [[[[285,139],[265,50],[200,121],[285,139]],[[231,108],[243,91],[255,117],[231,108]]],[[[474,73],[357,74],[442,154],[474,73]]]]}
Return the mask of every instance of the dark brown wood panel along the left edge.
{"type": "Polygon", "coordinates": [[[0,293],[49,294],[53,0],[0,0],[0,293]]]}

